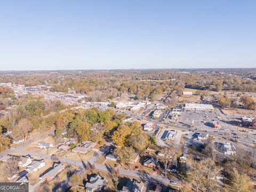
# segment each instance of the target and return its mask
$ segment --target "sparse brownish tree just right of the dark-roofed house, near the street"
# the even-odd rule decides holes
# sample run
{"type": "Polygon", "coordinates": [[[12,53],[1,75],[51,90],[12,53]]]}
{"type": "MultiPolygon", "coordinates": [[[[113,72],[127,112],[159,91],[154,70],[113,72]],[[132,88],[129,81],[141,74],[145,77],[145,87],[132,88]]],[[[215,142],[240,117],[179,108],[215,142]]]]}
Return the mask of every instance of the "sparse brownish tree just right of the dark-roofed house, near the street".
{"type": "Polygon", "coordinates": [[[174,145],[174,143],[172,143],[170,147],[163,148],[160,153],[163,154],[163,156],[160,157],[159,160],[164,163],[164,170],[166,176],[167,170],[177,156],[177,147],[174,145]]]}

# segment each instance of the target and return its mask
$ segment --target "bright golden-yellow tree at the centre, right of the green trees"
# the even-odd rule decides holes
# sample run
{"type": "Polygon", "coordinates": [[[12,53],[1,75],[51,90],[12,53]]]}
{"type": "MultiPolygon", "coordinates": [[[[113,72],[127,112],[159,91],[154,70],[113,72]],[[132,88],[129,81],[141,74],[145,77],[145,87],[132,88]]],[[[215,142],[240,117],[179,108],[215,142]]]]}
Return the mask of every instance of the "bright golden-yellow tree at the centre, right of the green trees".
{"type": "Polygon", "coordinates": [[[131,129],[125,124],[121,124],[117,130],[113,133],[112,139],[113,142],[118,146],[124,146],[124,143],[127,140],[127,136],[131,134],[131,129]]]}

